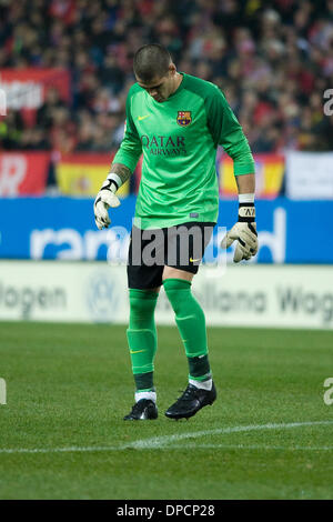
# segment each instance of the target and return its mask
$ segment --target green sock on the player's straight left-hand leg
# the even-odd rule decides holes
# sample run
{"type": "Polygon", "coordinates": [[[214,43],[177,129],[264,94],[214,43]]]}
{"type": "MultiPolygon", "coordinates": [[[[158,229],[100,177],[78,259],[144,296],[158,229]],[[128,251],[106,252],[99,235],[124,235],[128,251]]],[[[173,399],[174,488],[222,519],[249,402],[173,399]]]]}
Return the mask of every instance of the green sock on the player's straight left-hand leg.
{"type": "Polygon", "coordinates": [[[158,344],[154,310],[158,297],[158,292],[130,289],[127,335],[137,391],[153,390],[153,360],[158,344]]]}

